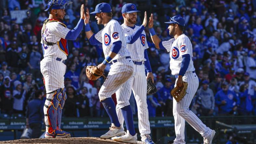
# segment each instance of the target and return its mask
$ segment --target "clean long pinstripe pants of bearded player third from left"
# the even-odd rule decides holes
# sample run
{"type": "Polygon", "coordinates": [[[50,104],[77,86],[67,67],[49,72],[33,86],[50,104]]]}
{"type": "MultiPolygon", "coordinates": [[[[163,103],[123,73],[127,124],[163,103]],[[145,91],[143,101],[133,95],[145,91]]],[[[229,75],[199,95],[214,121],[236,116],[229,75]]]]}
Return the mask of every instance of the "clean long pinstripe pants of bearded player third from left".
{"type": "MultiPolygon", "coordinates": [[[[117,97],[123,97],[134,93],[134,98],[137,103],[138,108],[138,119],[139,119],[139,131],[140,135],[150,134],[150,124],[148,120],[148,109],[147,109],[147,80],[145,75],[144,65],[134,64],[133,76],[127,80],[123,86],[116,92],[117,97]]],[[[118,120],[121,125],[123,125],[123,115],[121,108],[124,107],[122,102],[117,101],[116,112],[118,120]]]]}

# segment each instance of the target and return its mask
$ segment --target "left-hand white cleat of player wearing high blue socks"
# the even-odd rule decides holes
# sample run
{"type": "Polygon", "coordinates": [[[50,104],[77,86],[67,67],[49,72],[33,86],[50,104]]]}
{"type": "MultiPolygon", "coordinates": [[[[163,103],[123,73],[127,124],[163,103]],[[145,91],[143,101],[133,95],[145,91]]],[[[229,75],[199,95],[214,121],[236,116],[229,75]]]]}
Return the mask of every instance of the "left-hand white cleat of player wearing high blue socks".
{"type": "Polygon", "coordinates": [[[116,136],[120,136],[122,134],[124,134],[124,130],[120,127],[116,127],[114,124],[111,124],[111,127],[109,127],[109,131],[100,136],[99,138],[113,138],[113,137],[116,137],[116,136]]]}

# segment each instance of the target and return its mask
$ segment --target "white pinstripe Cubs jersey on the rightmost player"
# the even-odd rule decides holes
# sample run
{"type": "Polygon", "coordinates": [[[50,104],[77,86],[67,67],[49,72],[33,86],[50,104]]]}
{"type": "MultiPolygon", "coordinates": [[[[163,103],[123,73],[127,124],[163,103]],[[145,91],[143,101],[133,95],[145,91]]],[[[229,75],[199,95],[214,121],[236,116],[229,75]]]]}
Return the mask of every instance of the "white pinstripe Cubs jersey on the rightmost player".
{"type": "Polygon", "coordinates": [[[176,40],[170,39],[169,41],[162,42],[165,49],[170,52],[170,69],[172,70],[172,75],[178,75],[181,68],[182,55],[189,54],[190,62],[186,72],[194,71],[193,64],[193,51],[192,44],[189,38],[182,34],[176,40]]]}

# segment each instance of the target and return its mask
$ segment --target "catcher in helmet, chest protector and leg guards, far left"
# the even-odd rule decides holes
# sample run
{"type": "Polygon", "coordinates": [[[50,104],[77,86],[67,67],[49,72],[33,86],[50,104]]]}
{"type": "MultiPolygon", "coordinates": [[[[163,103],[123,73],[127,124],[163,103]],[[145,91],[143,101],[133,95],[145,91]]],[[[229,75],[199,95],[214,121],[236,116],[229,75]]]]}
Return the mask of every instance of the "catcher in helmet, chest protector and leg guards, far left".
{"type": "Polygon", "coordinates": [[[62,108],[67,99],[64,89],[64,64],[69,54],[67,40],[76,40],[83,30],[84,6],[81,6],[81,18],[77,26],[70,30],[61,21],[65,16],[65,6],[70,5],[69,0],[51,0],[45,11],[49,18],[42,27],[42,49],[44,59],[40,62],[41,73],[44,76],[46,89],[45,113],[45,138],[70,137],[70,133],[61,130],[62,108]]]}

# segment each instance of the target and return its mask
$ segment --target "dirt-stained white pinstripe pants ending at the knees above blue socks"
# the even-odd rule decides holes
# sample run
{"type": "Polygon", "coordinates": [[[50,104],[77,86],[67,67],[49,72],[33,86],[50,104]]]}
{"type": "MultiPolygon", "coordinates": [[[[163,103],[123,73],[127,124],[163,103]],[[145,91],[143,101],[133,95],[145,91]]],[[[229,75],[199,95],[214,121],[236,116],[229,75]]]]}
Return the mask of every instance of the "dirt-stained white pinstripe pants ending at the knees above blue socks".
{"type": "MultiPolygon", "coordinates": [[[[103,101],[106,98],[111,98],[111,95],[114,94],[123,84],[132,76],[133,74],[133,61],[131,58],[126,59],[125,57],[119,58],[118,62],[111,65],[109,70],[109,75],[104,81],[103,85],[99,90],[99,100],[103,101]]],[[[122,95],[120,97],[116,96],[117,101],[122,102],[124,106],[130,104],[129,99],[130,95],[122,95]]]]}

